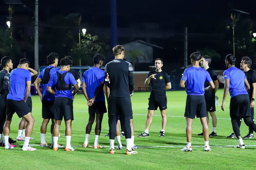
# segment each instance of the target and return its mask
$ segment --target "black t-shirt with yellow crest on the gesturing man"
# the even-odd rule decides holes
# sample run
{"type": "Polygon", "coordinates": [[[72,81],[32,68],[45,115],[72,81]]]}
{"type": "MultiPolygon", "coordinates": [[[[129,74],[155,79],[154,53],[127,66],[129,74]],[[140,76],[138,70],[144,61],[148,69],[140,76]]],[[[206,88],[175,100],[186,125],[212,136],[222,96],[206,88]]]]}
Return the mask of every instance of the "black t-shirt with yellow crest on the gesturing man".
{"type": "Polygon", "coordinates": [[[169,75],[164,71],[151,71],[148,73],[147,78],[149,78],[149,76],[153,74],[157,75],[155,75],[156,79],[150,79],[150,97],[162,97],[163,95],[166,95],[165,86],[167,83],[170,83],[171,80],[169,78],[169,75]]]}

